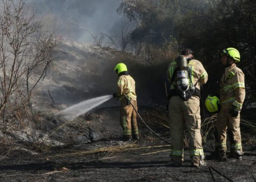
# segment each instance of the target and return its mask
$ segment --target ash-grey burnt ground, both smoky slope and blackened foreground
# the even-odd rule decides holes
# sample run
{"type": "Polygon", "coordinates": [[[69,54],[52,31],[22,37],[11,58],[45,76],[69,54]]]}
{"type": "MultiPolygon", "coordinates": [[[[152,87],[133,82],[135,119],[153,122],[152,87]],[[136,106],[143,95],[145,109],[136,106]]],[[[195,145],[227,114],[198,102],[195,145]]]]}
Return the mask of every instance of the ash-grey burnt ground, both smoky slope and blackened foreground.
{"type": "MultiPolygon", "coordinates": [[[[0,181],[211,182],[210,166],[233,181],[255,181],[256,137],[248,125],[242,125],[243,149],[247,152],[242,161],[213,160],[206,161],[206,167],[192,168],[187,150],[183,166],[171,166],[170,146],[139,119],[140,140],[121,141],[119,102],[114,99],[74,120],[61,117],[61,110],[68,106],[115,91],[113,67],[120,61],[116,54],[119,53],[111,48],[62,43],[54,68],[40,82],[40,102],[33,103],[35,122],[21,125],[7,113],[0,124],[0,181]]],[[[142,98],[140,94],[146,98],[150,95],[140,90],[138,98],[142,98]]],[[[157,134],[170,140],[168,113],[163,106],[152,103],[150,99],[140,100],[138,112],[157,134]]],[[[204,149],[209,155],[207,151],[212,151],[214,144],[213,130],[205,137],[204,149]]],[[[185,148],[186,143],[185,140],[185,148]]],[[[215,181],[227,181],[215,171],[213,175],[215,181]]]]}

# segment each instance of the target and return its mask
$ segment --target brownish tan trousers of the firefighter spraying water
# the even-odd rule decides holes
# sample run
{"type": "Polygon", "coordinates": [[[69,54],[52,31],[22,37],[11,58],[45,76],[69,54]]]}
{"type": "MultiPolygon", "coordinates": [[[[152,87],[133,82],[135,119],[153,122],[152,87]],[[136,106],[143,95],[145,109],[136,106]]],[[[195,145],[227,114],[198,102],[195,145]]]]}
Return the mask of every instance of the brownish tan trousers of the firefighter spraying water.
{"type": "MultiPolygon", "coordinates": [[[[137,101],[131,100],[131,103],[137,108],[137,101]]],[[[121,100],[120,122],[123,129],[123,136],[130,136],[131,134],[138,134],[137,113],[133,106],[126,98],[121,100]]]]}

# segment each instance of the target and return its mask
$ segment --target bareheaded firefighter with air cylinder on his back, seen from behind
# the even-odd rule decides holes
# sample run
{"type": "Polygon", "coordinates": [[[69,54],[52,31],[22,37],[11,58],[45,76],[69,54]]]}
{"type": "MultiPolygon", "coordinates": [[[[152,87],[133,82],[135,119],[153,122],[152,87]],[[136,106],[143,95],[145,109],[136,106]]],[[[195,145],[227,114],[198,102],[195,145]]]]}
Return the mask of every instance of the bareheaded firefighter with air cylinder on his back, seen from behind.
{"type": "Polygon", "coordinates": [[[187,48],[182,51],[168,67],[168,81],[171,89],[168,94],[171,136],[171,162],[182,165],[183,132],[187,127],[189,134],[189,153],[192,166],[204,166],[204,151],[200,133],[200,86],[208,80],[208,74],[201,62],[193,59],[193,52],[187,48]]]}

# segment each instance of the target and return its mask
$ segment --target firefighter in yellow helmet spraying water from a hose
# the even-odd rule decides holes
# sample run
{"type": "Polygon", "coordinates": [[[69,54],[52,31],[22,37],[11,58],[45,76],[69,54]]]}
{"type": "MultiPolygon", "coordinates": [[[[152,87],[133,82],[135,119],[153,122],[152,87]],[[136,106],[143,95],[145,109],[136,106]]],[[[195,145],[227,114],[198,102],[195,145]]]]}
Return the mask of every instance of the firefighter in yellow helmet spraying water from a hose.
{"type": "Polygon", "coordinates": [[[123,141],[131,141],[131,139],[139,139],[138,125],[137,125],[137,113],[133,106],[137,109],[137,96],[135,93],[135,81],[128,74],[127,67],[123,63],[119,63],[114,68],[114,71],[118,75],[118,91],[113,94],[113,97],[118,97],[121,101],[120,110],[120,123],[123,129],[123,141]],[[129,98],[125,97],[125,95],[129,98]]]}

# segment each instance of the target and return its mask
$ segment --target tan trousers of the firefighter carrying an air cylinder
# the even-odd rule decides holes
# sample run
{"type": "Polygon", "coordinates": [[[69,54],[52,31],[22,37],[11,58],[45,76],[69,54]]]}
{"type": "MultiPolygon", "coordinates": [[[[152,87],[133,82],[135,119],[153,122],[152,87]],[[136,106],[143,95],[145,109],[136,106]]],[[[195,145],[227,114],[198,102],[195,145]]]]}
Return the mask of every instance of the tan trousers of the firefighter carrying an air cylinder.
{"type": "Polygon", "coordinates": [[[192,96],[188,101],[183,101],[179,96],[172,96],[169,101],[169,114],[172,160],[183,161],[185,126],[189,133],[190,158],[196,158],[198,162],[203,160],[199,98],[192,96]]]}

